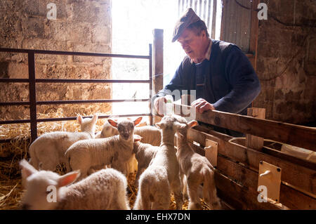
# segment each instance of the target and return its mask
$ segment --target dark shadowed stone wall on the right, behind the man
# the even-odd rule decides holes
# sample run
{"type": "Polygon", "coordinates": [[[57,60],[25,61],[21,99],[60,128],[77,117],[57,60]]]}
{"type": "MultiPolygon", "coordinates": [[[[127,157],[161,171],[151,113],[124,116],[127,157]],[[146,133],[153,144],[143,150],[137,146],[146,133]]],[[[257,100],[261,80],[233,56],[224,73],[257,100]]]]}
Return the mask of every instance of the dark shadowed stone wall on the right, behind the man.
{"type": "Polygon", "coordinates": [[[316,1],[265,0],[259,20],[255,107],[266,118],[292,124],[316,121],[316,1]],[[295,4],[295,5],[294,5],[295,4]]]}

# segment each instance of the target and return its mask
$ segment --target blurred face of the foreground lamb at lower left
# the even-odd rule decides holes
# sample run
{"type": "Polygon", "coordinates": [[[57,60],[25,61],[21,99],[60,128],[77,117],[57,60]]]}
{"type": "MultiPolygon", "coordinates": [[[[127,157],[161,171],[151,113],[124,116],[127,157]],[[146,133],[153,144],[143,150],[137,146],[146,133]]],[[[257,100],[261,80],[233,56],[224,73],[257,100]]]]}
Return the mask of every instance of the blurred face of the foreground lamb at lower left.
{"type": "Polygon", "coordinates": [[[26,179],[22,209],[50,210],[57,206],[58,174],[39,171],[26,179]]]}

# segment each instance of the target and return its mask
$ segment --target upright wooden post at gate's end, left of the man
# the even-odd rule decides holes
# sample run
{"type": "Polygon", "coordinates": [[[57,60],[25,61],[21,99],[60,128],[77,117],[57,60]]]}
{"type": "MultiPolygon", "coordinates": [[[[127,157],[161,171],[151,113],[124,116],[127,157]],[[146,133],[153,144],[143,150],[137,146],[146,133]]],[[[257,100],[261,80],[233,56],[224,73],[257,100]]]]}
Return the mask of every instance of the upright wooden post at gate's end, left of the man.
{"type": "MultiPolygon", "coordinates": [[[[154,46],[152,52],[153,77],[152,77],[152,93],[157,94],[164,88],[164,29],[154,29],[154,46]]],[[[157,114],[152,105],[152,112],[157,114]]],[[[161,120],[161,117],[153,116],[154,124],[161,120]]]]}

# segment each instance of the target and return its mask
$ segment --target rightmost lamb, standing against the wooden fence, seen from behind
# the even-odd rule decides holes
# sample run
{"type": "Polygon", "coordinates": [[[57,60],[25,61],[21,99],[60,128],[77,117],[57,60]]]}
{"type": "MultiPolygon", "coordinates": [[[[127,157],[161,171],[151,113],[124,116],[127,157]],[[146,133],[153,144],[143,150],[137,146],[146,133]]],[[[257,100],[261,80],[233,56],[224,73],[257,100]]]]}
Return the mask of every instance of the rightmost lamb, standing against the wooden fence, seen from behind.
{"type": "Polygon", "coordinates": [[[180,164],[180,176],[185,175],[186,183],[183,184],[186,185],[189,195],[189,209],[201,209],[198,192],[202,183],[206,204],[213,206],[213,209],[221,209],[220,199],[216,196],[213,166],[206,157],[194,152],[187,144],[187,130],[197,126],[197,121],[187,122],[180,116],[177,116],[177,120],[183,127],[176,133],[178,143],[176,155],[180,164]]]}

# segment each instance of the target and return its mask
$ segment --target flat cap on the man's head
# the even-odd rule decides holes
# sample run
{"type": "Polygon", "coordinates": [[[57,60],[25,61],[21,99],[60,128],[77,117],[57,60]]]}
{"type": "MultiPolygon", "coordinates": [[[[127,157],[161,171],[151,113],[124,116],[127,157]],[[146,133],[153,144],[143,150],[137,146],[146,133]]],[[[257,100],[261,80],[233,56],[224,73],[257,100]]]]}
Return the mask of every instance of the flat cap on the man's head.
{"type": "Polygon", "coordinates": [[[192,8],[187,8],[187,11],[183,16],[176,22],[176,26],[173,29],[172,42],[176,41],[182,34],[182,32],[190,26],[192,23],[201,20],[192,8]]]}

